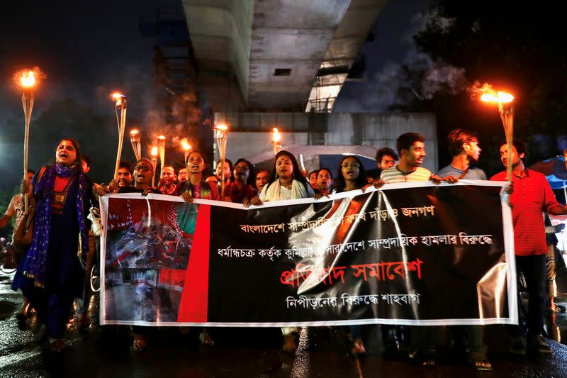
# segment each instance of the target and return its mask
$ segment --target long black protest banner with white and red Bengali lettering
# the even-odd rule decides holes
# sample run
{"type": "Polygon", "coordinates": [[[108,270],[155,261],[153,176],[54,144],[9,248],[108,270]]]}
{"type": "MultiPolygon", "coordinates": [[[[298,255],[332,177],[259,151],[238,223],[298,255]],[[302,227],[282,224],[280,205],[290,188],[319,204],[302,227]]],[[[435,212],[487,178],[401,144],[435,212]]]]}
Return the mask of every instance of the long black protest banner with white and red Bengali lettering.
{"type": "Polygon", "coordinates": [[[503,182],[240,204],[101,199],[101,323],[517,323],[503,182]]]}

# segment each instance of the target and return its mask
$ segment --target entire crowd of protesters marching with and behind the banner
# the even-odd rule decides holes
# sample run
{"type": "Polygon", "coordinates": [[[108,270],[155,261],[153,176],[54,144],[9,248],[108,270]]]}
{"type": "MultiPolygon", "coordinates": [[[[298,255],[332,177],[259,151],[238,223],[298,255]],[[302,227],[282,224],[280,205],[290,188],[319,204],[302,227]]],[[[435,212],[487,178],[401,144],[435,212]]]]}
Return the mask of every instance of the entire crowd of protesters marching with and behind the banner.
{"type": "MultiPolygon", "coordinates": [[[[21,192],[30,194],[35,201],[36,211],[33,240],[30,248],[23,253],[13,279],[13,289],[21,289],[26,297],[18,316],[25,320],[30,308],[33,308],[38,318],[34,340],[47,340],[50,349],[55,352],[65,348],[65,324],[74,299],[86,292],[83,290],[84,267],[89,270],[96,249],[96,243],[93,243],[96,233],[91,231],[89,238],[91,223],[87,216],[98,206],[99,196],[106,193],[166,194],[181,196],[190,204],[193,199],[212,199],[249,207],[283,199],[317,200],[333,193],[364,191],[370,186],[380,188],[388,183],[429,180],[434,184],[453,184],[460,179],[487,179],[482,169],[475,167],[481,153],[475,133],[453,130],[449,133],[447,145],[451,163],[437,174],[422,167],[427,155],[422,135],[405,133],[398,138],[396,151],[386,147],[377,151],[376,168],[368,171],[358,157],[345,155],[338,167],[320,167],[305,174],[293,154],[286,150],[276,154],[271,170],[254,172],[251,162],[239,158],[234,165],[228,159],[218,161],[213,171],[203,152],[193,150],[187,157],[186,167],[177,170],[172,165],[164,165],[156,187],[150,184],[155,167],[150,160],[142,158],[135,162],[134,167],[127,162],[121,163],[118,177],[105,188],[89,179],[90,160],[81,154],[77,141],[65,138],[57,145],[55,162],[38,172],[30,171],[28,180],[21,184],[21,192]]],[[[510,352],[519,355],[527,352],[551,353],[541,337],[550,296],[546,291],[548,244],[542,214],[566,214],[567,206],[556,201],[543,174],[527,169],[524,143],[515,141],[511,152],[512,160],[508,161],[507,145],[503,144],[500,160],[504,167],[512,165],[512,183],[507,186],[506,193],[512,205],[516,268],[518,277],[525,280],[529,306],[525,322],[520,317],[520,325],[512,327],[510,352]]],[[[506,172],[495,174],[490,179],[505,181],[506,172]]],[[[4,218],[0,219],[0,227],[6,226],[15,215],[16,229],[22,213],[23,201],[18,195],[11,201],[4,218]]],[[[455,337],[464,338],[471,365],[478,370],[490,370],[483,328],[451,328],[455,337]]],[[[143,331],[134,328],[133,333],[133,349],[146,348],[143,331]]],[[[298,328],[282,328],[282,333],[283,350],[295,352],[298,328]]],[[[399,346],[401,340],[398,339],[404,333],[412,333],[409,345],[405,345],[407,354],[425,366],[435,365],[439,328],[383,326],[384,343],[399,346]]],[[[361,326],[349,326],[349,334],[352,354],[364,354],[361,326]]],[[[202,343],[213,343],[206,330],[200,338],[202,343]]]]}

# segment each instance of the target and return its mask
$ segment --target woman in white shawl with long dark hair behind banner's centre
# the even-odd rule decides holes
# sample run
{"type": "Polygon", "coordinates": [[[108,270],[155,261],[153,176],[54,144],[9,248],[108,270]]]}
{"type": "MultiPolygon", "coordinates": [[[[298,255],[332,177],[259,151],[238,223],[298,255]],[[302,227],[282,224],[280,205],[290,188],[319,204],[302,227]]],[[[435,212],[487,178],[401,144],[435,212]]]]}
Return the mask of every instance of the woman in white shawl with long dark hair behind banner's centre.
{"type": "MultiPolygon", "coordinates": [[[[279,201],[281,199],[300,199],[315,196],[315,192],[301,174],[296,157],[290,152],[281,150],[276,154],[274,169],[269,182],[264,186],[259,196],[251,200],[245,199],[246,207],[262,205],[266,201],[279,201]]],[[[283,352],[294,353],[297,349],[297,327],[283,327],[283,352]]]]}

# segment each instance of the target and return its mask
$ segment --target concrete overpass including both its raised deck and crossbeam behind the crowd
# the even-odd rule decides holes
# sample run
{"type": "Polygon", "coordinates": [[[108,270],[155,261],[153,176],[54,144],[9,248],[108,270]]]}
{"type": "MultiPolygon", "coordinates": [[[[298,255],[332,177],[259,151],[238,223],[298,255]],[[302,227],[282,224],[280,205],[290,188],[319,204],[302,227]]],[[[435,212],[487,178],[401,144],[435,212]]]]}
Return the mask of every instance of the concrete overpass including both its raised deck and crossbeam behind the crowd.
{"type": "Polygon", "coordinates": [[[433,114],[331,113],[386,1],[182,0],[213,123],[230,128],[227,157],[271,168],[277,127],[310,170],[325,155],[373,158],[417,131],[430,152],[425,166],[436,170],[433,114]]]}

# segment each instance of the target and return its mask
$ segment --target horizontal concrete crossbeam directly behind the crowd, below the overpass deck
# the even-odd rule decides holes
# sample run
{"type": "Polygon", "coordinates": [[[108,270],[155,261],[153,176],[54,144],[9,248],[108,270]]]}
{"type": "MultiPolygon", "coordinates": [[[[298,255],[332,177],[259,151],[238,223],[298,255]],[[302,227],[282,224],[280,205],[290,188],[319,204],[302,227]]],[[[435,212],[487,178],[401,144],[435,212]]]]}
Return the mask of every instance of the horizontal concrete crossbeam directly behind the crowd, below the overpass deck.
{"type": "Polygon", "coordinates": [[[215,123],[224,122],[235,130],[228,134],[227,157],[232,161],[246,157],[267,169],[274,164],[274,125],[282,131],[283,149],[301,159],[307,172],[320,167],[323,155],[352,153],[374,159],[378,148],[395,150],[398,136],[409,132],[425,138],[427,156],[423,166],[432,172],[438,169],[437,121],[433,113],[216,113],[215,123]]]}

